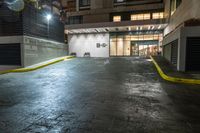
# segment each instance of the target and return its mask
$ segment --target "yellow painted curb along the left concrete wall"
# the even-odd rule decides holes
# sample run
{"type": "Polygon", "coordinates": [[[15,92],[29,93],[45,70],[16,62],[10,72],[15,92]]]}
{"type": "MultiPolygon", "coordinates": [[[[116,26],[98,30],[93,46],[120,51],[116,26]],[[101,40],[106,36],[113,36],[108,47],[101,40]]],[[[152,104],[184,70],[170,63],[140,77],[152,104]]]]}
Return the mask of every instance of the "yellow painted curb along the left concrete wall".
{"type": "Polygon", "coordinates": [[[34,70],[37,70],[37,69],[40,69],[40,68],[43,68],[43,67],[46,67],[46,66],[49,66],[49,65],[52,65],[52,64],[64,61],[66,59],[71,59],[71,58],[74,58],[74,56],[65,56],[65,57],[59,58],[57,60],[48,62],[46,64],[42,64],[42,65],[39,65],[39,66],[36,66],[36,67],[33,67],[33,68],[20,68],[20,69],[13,69],[13,70],[1,71],[0,75],[1,74],[6,74],[6,73],[30,72],[30,71],[34,71],[34,70]]]}

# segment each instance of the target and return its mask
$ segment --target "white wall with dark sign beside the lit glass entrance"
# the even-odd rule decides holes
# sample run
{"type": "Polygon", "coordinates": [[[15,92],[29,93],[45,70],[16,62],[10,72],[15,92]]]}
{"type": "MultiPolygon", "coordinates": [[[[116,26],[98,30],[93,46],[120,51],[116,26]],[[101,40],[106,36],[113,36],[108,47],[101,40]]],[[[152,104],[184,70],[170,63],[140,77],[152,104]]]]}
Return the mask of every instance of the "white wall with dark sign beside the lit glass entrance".
{"type": "Polygon", "coordinates": [[[86,52],[91,57],[109,57],[109,33],[69,35],[68,41],[69,53],[76,53],[77,57],[83,57],[86,52]],[[107,46],[97,48],[97,43],[107,46]]]}

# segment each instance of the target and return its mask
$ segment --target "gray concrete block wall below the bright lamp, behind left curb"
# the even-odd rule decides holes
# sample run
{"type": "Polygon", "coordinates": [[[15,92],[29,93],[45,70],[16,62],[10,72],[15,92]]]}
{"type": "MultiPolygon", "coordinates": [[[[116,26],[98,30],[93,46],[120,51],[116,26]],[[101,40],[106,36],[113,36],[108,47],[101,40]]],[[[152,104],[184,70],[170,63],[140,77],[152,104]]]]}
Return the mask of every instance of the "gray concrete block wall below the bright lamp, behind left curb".
{"type": "Polygon", "coordinates": [[[24,67],[67,55],[67,45],[55,41],[24,36],[22,46],[24,67]]]}

